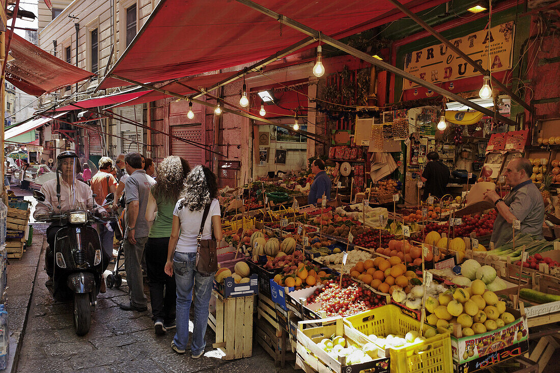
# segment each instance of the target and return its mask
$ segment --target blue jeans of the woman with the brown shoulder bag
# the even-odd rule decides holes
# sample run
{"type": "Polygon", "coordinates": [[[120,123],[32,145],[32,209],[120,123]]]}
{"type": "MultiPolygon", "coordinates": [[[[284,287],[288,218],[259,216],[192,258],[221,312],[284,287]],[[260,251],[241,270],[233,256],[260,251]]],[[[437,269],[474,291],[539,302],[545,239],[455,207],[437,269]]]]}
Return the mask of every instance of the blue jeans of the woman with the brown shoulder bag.
{"type": "Polygon", "coordinates": [[[177,331],[173,342],[179,349],[185,349],[189,342],[189,312],[194,287],[194,329],[190,352],[198,355],[204,351],[206,327],[208,325],[208,306],[212,295],[214,275],[200,276],[196,268],[196,253],[178,253],[173,256],[173,273],[177,286],[177,331]]]}

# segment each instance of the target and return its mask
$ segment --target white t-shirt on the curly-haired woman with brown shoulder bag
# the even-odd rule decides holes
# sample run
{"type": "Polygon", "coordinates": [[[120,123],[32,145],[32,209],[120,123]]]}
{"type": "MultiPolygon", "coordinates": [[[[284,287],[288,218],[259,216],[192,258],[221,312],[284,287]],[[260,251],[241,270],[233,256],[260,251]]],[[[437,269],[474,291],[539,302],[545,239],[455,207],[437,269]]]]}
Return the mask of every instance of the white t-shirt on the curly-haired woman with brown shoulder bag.
{"type": "MultiPolygon", "coordinates": [[[[200,231],[200,223],[202,223],[204,209],[190,211],[188,206],[179,209],[179,203],[181,203],[183,199],[184,198],[179,199],[173,210],[173,215],[179,217],[181,223],[181,234],[179,235],[179,241],[177,241],[175,251],[179,253],[196,253],[197,236],[200,231]]],[[[218,202],[216,198],[214,198],[210,204],[210,211],[208,212],[206,223],[204,223],[204,230],[202,231],[203,240],[212,238],[212,216],[221,216],[220,202],[218,202]]]]}

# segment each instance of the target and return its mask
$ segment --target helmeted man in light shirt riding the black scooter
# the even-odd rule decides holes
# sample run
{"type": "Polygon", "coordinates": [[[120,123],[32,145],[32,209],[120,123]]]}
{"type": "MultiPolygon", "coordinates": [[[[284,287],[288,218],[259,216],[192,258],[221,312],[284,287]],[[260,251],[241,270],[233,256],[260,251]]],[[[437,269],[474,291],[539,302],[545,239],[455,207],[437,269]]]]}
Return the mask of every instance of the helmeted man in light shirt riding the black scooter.
{"type": "MultiPolygon", "coordinates": [[[[80,159],[72,151],[64,151],[57,157],[57,177],[46,181],[41,186],[41,192],[45,194],[46,202],[54,207],[55,212],[64,212],[71,209],[90,209],[94,206],[94,198],[89,185],[76,179],[81,172],[80,159]]],[[[42,204],[37,204],[33,216],[40,220],[41,215],[48,215],[49,210],[42,204]]],[[[52,284],[54,270],[54,239],[62,226],[50,225],[46,229],[46,240],[49,244],[45,253],[45,270],[49,276],[47,287],[52,284]]],[[[103,258],[106,268],[108,258],[103,258]]]]}

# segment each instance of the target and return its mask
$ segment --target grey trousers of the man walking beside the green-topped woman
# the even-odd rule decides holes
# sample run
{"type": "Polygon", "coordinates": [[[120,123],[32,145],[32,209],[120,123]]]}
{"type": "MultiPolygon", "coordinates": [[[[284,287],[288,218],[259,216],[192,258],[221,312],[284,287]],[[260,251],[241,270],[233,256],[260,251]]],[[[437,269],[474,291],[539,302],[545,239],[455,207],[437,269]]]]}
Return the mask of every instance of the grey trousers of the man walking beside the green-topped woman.
{"type": "Polygon", "coordinates": [[[127,272],[128,296],[130,305],[134,307],[146,307],[148,299],[144,295],[144,283],[142,278],[142,257],[144,246],[148,237],[136,237],[136,245],[132,245],[127,239],[123,241],[124,269],[127,272]]]}

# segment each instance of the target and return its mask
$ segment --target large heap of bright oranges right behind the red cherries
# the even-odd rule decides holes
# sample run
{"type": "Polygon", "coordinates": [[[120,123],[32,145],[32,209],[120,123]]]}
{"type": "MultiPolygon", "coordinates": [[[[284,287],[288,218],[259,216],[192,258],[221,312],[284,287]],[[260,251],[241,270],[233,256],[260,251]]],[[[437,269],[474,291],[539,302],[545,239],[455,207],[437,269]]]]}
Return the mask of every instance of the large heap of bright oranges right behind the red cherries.
{"type": "Polygon", "coordinates": [[[410,278],[416,278],[416,273],[407,271],[407,267],[396,255],[385,259],[377,257],[358,262],[350,269],[350,276],[357,278],[382,293],[392,293],[393,286],[399,286],[408,293],[410,278]]]}

